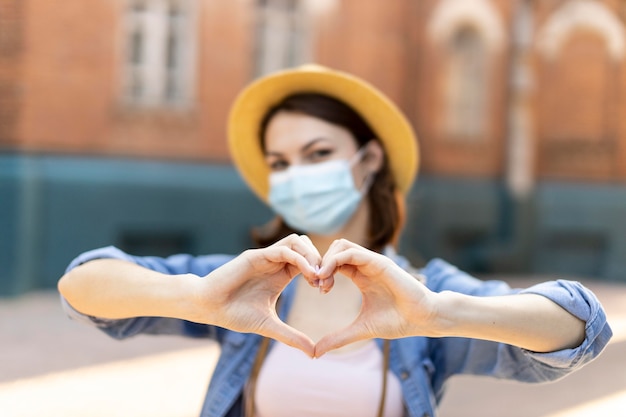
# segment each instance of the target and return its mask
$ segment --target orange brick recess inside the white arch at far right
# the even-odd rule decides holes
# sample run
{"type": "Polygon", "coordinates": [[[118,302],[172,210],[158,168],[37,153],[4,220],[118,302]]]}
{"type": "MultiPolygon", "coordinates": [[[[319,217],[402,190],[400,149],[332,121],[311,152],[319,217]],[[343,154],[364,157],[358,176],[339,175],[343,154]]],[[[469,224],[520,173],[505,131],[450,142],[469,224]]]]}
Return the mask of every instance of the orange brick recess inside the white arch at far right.
{"type": "Polygon", "coordinates": [[[570,33],[559,56],[538,66],[540,175],[607,177],[615,168],[619,76],[604,39],[570,33]]]}

